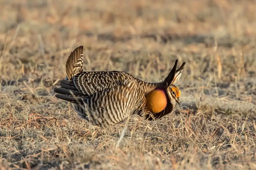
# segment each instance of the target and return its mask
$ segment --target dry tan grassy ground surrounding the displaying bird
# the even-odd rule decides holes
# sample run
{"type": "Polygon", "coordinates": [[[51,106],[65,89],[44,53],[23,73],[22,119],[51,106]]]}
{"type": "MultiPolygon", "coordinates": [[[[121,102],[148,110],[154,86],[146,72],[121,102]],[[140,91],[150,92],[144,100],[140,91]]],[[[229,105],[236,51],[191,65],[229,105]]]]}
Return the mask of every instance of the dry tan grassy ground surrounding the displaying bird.
{"type": "Polygon", "coordinates": [[[256,3],[1,0],[0,169],[256,169],[256,3]],[[163,80],[186,62],[164,120],[102,130],[52,95],[84,45],[84,69],[163,80]],[[179,66],[178,65],[178,66],[179,66]]]}

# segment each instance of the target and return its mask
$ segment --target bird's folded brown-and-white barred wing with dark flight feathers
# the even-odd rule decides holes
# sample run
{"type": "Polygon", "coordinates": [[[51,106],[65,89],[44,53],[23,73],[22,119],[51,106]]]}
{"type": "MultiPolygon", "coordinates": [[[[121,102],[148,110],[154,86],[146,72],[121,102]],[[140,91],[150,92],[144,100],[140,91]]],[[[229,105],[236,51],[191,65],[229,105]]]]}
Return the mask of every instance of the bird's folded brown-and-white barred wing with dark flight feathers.
{"type": "Polygon", "coordinates": [[[132,82],[129,75],[118,71],[112,72],[80,72],[72,80],[61,80],[60,86],[54,89],[55,97],[73,103],[85,101],[95,93],[116,88],[120,85],[126,86],[132,82]]]}

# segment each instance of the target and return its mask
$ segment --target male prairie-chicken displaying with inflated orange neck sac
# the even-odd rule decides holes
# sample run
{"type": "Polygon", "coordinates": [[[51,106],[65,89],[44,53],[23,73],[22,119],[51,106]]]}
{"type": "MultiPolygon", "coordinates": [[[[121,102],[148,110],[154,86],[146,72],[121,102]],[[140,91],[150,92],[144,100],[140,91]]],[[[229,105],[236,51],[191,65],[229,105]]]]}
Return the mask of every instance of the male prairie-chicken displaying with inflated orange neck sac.
{"type": "Polygon", "coordinates": [[[185,62],[178,60],[163,82],[148,83],[121,71],[83,71],[83,45],[76,47],[66,62],[65,80],[54,89],[56,97],[72,103],[78,116],[93,125],[108,127],[138,114],[146,120],[165,117],[179,104],[175,86],[185,62]]]}

